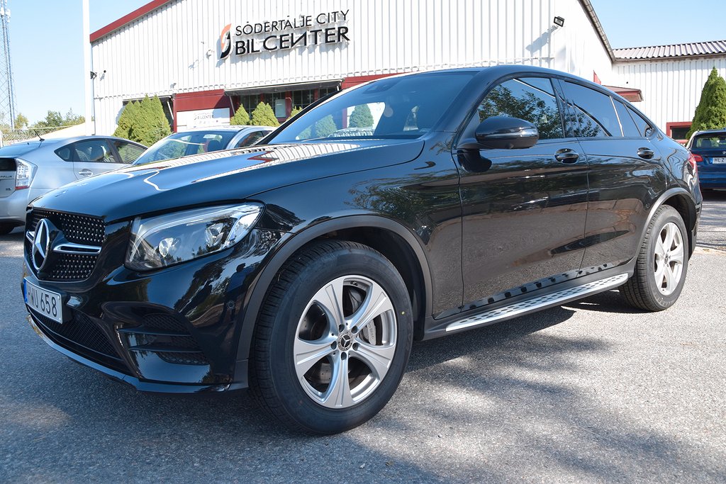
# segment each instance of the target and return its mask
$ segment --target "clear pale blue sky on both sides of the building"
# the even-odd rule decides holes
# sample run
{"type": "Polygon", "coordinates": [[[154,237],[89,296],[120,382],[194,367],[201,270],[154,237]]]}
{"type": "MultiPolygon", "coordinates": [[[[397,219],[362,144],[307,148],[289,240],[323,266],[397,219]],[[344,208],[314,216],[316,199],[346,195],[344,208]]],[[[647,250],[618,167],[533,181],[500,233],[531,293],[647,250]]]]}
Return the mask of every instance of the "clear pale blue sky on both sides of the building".
{"type": "MultiPolygon", "coordinates": [[[[591,1],[613,48],[726,39],[723,0],[591,1]]],[[[81,0],[8,3],[16,112],[31,123],[45,118],[48,110],[83,114],[81,0]]],[[[90,3],[93,32],[147,0],[90,3]]],[[[556,13],[567,21],[567,12],[556,13]]]]}

